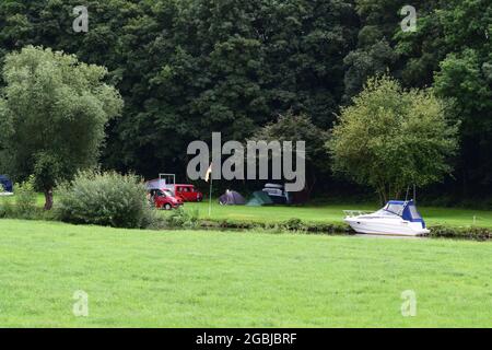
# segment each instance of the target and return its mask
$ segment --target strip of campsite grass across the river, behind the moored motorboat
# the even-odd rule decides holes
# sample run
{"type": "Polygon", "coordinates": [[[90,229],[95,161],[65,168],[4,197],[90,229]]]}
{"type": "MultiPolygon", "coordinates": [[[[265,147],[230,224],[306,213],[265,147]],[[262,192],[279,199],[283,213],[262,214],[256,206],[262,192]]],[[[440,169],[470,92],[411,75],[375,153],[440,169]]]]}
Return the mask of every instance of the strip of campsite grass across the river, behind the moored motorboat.
{"type": "MultiPolygon", "coordinates": [[[[186,208],[198,209],[201,218],[208,218],[208,203],[186,203],[186,208]]],[[[212,219],[232,219],[256,222],[279,222],[298,218],[311,222],[341,223],[343,210],[376,210],[367,205],[329,205],[306,207],[223,207],[213,203],[212,219]]],[[[429,225],[471,226],[473,217],[476,225],[492,228],[492,211],[455,209],[455,208],[419,208],[429,225]]]]}

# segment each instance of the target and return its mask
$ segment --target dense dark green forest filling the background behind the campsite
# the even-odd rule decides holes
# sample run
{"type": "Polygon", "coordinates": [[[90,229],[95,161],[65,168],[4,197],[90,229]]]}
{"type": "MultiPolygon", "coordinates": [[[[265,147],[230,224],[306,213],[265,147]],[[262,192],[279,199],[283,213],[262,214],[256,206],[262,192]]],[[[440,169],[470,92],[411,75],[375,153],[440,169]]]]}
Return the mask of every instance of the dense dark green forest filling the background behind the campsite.
{"type": "MultiPolygon", "coordinates": [[[[242,141],[280,115],[329,130],[368,78],[389,73],[432,86],[460,121],[453,176],[429,192],[492,197],[490,0],[83,2],[89,31],[75,33],[79,0],[2,0],[0,59],[35,45],[108,69],[125,107],[107,126],[104,168],[184,176],[189,142],[242,141]],[[414,32],[401,28],[407,4],[414,32]]],[[[342,188],[326,168],[313,170],[321,187],[342,188]]]]}

